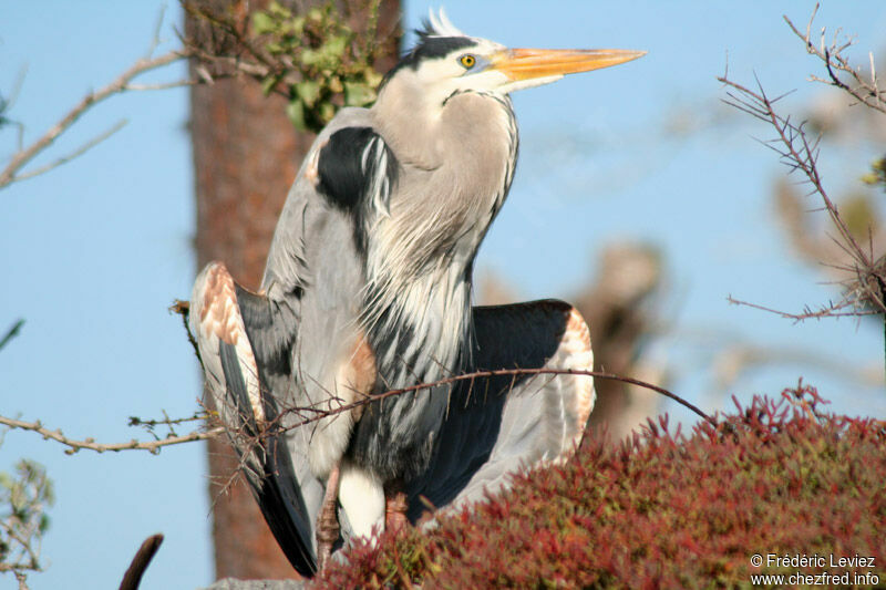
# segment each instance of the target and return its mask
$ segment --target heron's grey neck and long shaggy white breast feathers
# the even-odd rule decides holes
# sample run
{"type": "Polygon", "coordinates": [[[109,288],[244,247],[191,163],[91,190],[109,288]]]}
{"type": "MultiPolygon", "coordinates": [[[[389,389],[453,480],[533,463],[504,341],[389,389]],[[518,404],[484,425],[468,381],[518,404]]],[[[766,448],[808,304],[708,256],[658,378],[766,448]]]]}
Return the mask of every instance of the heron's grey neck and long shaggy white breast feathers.
{"type": "Polygon", "coordinates": [[[468,360],[472,265],[507,195],[518,143],[511,101],[499,95],[455,94],[435,111],[404,111],[414,118],[383,116],[392,107],[404,105],[377,103],[385,122],[377,128],[405,170],[389,215],[368,220],[364,299],[368,332],[398,339],[375,348],[388,387],[459,373],[468,360]]]}

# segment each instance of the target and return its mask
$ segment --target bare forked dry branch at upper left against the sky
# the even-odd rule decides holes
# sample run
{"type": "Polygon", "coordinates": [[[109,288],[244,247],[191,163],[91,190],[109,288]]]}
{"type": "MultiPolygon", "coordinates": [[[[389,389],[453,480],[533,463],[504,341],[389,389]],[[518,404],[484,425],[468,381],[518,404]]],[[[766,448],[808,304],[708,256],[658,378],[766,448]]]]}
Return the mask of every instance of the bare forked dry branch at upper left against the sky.
{"type": "Polygon", "coordinates": [[[114,80],[103,89],[86,94],[73,108],[71,108],[71,111],[68,112],[66,115],[64,115],[58,123],[55,123],[55,125],[53,125],[50,130],[48,130],[40,138],[38,138],[34,143],[32,143],[24,149],[18,152],[14,156],[12,156],[12,159],[9,162],[9,164],[7,164],[6,168],[3,168],[2,172],[0,172],[0,189],[9,186],[16,180],[30,178],[35,176],[37,174],[43,174],[45,172],[49,172],[50,169],[64,164],[69,159],[82,154],[86,149],[106,139],[115,131],[119,130],[119,126],[112,127],[111,130],[109,130],[109,132],[105,132],[99,135],[97,137],[90,139],[85,144],[83,144],[83,146],[75,149],[72,154],[59,158],[58,161],[53,162],[50,165],[43,166],[42,168],[34,170],[32,173],[27,173],[21,175],[18,174],[19,170],[24,165],[31,162],[38,154],[43,152],[47,147],[52,145],[52,143],[62,133],[64,133],[71,125],[73,125],[76,122],[76,120],[80,118],[80,116],[83,115],[83,113],[85,113],[90,107],[107,99],[109,96],[128,90],[134,90],[134,87],[130,85],[130,81],[133,77],[141,75],[147,71],[156,70],[157,68],[168,65],[177,60],[186,58],[187,55],[188,55],[187,51],[175,50],[158,58],[142,58],[137,60],[133,65],[131,65],[128,70],[126,70],[120,76],[117,76],[116,80],[114,80]]]}

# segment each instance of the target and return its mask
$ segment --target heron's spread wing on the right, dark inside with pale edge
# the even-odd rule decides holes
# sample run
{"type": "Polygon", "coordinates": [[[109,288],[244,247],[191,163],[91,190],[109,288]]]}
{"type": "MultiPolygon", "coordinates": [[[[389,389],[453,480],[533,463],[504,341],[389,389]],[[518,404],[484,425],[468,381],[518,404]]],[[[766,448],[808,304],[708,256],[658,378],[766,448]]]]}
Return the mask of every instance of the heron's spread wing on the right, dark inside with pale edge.
{"type": "MultiPolygon", "coordinates": [[[[573,369],[594,365],[585,320],[560,301],[474,308],[474,370],[573,369]]],[[[443,508],[508,485],[522,466],[568,456],[594,407],[589,376],[536,374],[460,382],[427,472],[408,485],[409,517],[421,497],[443,508]]]]}

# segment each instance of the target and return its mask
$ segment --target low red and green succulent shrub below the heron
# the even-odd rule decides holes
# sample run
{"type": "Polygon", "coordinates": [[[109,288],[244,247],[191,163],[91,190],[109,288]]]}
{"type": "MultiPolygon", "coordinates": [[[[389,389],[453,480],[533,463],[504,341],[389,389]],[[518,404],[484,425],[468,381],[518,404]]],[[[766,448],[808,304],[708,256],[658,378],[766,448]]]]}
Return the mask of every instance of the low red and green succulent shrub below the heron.
{"type": "Polygon", "coordinates": [[[516,475],[513,489],[430,532],[358,544],[317,583],[732,587],[797,571],[886,582],[886,423],[824,414],[802,384],[782,395],[735,402],[717,427],[689,436],[670,433],[667,416],[616,448],[588,435],[566,464],[516,475]],[[874,567],[832,568],[832,555],[874,567]]]}

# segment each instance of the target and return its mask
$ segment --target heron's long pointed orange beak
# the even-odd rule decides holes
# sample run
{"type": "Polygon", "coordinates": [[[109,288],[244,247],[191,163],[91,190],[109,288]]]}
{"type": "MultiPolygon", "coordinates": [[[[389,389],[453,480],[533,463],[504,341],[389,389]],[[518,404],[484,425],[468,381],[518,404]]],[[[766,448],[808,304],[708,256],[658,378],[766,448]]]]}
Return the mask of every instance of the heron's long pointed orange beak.
{"type": "Polygon", "coordinates": [[[629,62],[646,51],[625,49],[507,49],[492,58],[492,66],[512,81],[589,72],[629,62]]]}

